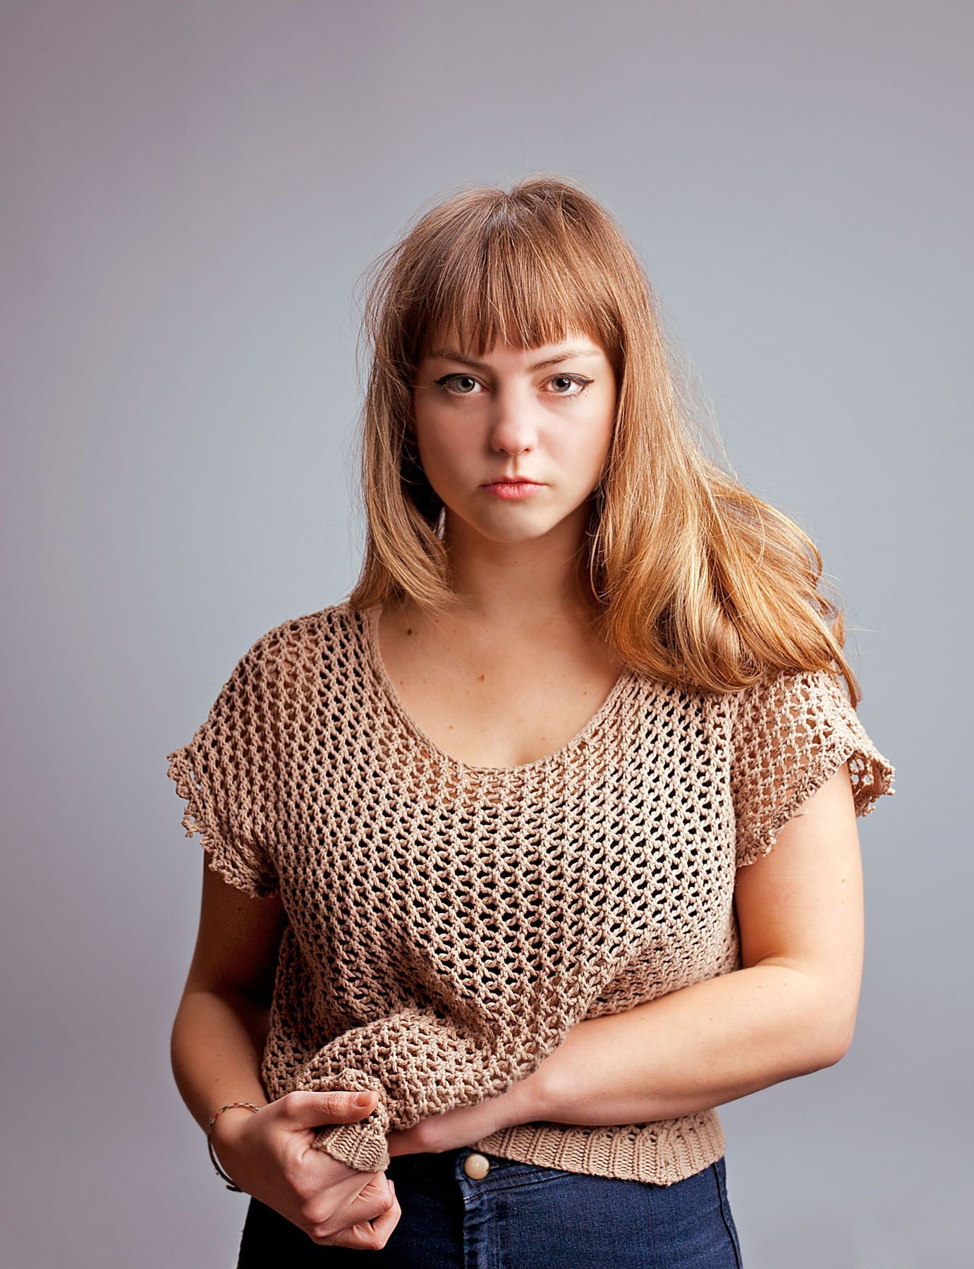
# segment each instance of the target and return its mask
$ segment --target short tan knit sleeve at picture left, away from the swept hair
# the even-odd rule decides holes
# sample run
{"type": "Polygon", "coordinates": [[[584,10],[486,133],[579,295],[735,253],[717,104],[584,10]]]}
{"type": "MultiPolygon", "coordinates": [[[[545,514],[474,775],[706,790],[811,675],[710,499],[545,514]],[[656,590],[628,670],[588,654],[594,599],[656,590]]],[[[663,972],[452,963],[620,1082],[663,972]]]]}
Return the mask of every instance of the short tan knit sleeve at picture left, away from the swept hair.
{"type": "Polygon", "coordinates": [[[166,755],[168,777],[187,799],[183,827],[210,868],[253,898],[278,893],[268,849],[268,693],[260,641],[237,661],[193,739],[166,755]]]}

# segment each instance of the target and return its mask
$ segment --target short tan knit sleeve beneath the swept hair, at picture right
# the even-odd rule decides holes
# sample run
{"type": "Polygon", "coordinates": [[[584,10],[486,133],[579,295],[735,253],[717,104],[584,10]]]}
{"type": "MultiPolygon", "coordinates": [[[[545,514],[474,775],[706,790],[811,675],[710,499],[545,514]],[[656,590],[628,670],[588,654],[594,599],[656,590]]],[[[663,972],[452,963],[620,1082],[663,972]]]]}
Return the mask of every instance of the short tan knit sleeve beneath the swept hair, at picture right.
{"type": "Polygon", "coordinates": [[[895,769],[879,753],[841,679],[782,670],[738,694],[731,792],[737,867],[768,854],[799,808],[848,761],[856,815],[893,794],[895,769]]]}

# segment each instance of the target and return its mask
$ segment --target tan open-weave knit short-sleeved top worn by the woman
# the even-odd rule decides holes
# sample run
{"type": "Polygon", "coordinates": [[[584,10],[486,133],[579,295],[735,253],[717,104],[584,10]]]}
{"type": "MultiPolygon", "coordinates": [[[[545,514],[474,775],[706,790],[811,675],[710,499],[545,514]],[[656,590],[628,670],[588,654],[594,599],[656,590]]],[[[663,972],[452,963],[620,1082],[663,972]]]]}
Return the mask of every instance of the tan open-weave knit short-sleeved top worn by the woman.
{"type": "MultiPolygon", "coordinates": [[[[389,1166],[387,1132],[502,1094],[583,1019],[740,968],[735,868],[842,763],[857,815],[894,792],[824,671],[719,694],[625,670],[557,753],[472,766],[403,706],[377,617],[344,602],[274,627],[168,755],[210,867],[287,912],[268,1098],[378,1090],[366,1119],[314,1138],[367,1171],[389,1166]]],[[[725,1138],[705,1109],[474,1145],[669,1185],[725,1138]]]]}

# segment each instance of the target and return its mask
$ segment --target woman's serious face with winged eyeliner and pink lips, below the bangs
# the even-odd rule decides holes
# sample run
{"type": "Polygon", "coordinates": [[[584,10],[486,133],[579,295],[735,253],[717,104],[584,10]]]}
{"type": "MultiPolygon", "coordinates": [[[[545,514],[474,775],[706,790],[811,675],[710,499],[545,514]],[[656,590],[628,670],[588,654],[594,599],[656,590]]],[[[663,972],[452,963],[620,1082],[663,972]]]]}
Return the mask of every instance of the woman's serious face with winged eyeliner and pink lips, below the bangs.
{"type": "MultiPolygon", "coordinates": [[[[612,365],[590,336],[481,360],[446,336],[419,363],[417,444],[427,480],[447,506],[497,542],[540,537],[579,511],[608,454],[616,411],[612,365]],[[503,477],[532,485],[495,485],[503,477]]],[[[579,532],[588,508],[579,511],[579,532]]]]}

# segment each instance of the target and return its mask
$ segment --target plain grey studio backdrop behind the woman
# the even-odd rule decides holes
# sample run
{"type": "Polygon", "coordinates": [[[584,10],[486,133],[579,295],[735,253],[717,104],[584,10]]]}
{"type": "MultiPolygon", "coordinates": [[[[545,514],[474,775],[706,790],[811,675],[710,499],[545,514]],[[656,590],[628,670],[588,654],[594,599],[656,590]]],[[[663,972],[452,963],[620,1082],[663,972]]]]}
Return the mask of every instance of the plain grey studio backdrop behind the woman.
{"type": "Polygon", "coordinates": [[[169,1068],[202,851],[164,755],[352,585],[358,275],[541,169],[618,216],[738,471],[819,543],[897,765],[850,1053],[721,1112],[745,1264],[969,1263],[969,6],[1,14],[3,1263],[235,1260],[169,1068]]]}

